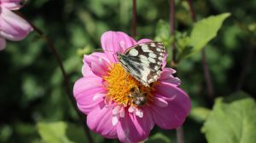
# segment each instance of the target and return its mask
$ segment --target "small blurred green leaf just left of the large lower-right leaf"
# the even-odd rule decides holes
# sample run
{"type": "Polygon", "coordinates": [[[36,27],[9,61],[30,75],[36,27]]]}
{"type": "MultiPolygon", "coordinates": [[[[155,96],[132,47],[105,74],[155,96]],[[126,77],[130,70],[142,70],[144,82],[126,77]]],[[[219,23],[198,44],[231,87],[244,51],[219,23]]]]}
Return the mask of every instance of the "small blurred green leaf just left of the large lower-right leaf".
{"type": "Polygon", "coordinates": [[[194,118],[198,122],[203,122],[207,119],[210,112],[211,110],[205,107],[195,107],[192,108],[189,116],[194,118]]]}

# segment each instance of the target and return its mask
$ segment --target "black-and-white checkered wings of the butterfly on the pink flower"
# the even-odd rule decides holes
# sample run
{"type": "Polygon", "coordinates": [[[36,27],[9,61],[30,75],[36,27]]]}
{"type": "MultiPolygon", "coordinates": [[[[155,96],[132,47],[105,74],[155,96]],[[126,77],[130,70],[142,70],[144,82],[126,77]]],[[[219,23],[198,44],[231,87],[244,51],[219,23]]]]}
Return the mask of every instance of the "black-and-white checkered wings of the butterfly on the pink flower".
{"type": "Polygon", "coordinates": [[[117,54],[117,56],[125,71],[148,87],[149,83],[157,81],[160,77],[165,53],[163,43],[148,42],[132,46],[125,51],[125,54],[117,54]]]}

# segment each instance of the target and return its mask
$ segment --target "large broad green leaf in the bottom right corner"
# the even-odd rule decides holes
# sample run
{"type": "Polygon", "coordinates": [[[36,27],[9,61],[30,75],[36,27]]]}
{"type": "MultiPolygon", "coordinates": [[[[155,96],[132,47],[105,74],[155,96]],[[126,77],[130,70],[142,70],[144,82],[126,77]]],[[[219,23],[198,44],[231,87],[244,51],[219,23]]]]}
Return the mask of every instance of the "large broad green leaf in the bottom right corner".
{"type": "Polygon", "coordinates": [[[239,100],[216,100],[202,128],[209,143],[256,142],[255,101],[243,92],[236,93],[235,96],[239,100]],[[244,98],[245,96],[247,97],[244,98]]]}

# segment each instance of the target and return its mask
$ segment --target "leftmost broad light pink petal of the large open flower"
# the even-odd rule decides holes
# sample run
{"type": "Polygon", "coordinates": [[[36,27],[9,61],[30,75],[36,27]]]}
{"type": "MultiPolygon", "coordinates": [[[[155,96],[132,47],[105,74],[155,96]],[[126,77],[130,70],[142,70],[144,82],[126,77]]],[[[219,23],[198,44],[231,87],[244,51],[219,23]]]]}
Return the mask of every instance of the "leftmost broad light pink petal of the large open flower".
{"type": "Polygon", "coordinates": [[[105,94],[106,89],[102,85],[102,78],[100,77],[82,77],[73,87],[73,94],[77,100],[79,110],[88,114],[94,109],[97,104],[103,102],[103,96],[96,98],[99,94],[105,94]]]}

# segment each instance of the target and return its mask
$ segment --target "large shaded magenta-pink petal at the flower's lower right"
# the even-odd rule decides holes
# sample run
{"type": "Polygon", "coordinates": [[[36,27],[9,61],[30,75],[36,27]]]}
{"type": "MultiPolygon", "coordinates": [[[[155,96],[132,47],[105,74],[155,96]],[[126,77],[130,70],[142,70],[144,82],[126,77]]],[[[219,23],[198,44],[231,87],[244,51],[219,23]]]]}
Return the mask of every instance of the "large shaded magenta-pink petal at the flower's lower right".
{"type": "Polygon", "coordinates": [[[191,103],[188,94],[170,83],[160,83],[155,87],[155,94],[171,98],[168,106],[160,107],[152,104],[152,116],[154,123],[162,129],[176,129],[183,124],[189,115],[191,103]]]}

